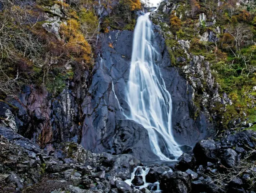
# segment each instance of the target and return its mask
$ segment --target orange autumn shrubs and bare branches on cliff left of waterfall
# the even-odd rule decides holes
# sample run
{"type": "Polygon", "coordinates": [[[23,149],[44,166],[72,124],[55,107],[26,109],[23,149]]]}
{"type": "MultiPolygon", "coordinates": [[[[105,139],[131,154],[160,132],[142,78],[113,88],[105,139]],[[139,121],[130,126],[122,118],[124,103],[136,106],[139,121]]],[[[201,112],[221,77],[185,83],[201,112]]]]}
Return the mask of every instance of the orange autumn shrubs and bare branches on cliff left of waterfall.
{"type": "Polygon", "coordinates": [[[73,73],[92,66],[97,27],[90,1],[2,2],[0,97],[14,97],[24,84],[60,93],[73,73]]]}

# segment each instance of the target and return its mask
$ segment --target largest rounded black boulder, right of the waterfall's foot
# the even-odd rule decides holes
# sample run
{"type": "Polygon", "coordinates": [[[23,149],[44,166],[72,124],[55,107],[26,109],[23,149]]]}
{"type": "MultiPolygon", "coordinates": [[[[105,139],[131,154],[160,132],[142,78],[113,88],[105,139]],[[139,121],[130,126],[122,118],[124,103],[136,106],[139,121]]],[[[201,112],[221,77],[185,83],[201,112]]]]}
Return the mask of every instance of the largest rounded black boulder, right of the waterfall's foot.
{"type": "Polygon", "coordinates": [[[199,163],[215,162],[217,153],[216,143],[214,140],[201,140],[197,142],[193,152],[199,163]]]}

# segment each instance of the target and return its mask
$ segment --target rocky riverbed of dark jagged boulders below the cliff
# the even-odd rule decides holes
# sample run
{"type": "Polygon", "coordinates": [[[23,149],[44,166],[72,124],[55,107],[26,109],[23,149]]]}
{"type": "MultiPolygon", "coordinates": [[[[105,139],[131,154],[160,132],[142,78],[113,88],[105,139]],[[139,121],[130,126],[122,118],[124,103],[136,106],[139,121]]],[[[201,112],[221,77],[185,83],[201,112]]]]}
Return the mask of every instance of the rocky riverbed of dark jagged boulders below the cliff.
{"type": "Polygon", "coordinates": [[[255,191],[256,132],[227,132],[199,141],[176,164],[143,164],[129,154],[95,154],[75,142],[38,148],[12,129],[0,127],[0,191],[23,193],[149,193],[255,191]],[[125,180],[131,178],[132,184],[125,180]],[[140,176],[148,170],[143,185],[140,176]],[[154,183],[155,184],[150,184],[154,183]]]}

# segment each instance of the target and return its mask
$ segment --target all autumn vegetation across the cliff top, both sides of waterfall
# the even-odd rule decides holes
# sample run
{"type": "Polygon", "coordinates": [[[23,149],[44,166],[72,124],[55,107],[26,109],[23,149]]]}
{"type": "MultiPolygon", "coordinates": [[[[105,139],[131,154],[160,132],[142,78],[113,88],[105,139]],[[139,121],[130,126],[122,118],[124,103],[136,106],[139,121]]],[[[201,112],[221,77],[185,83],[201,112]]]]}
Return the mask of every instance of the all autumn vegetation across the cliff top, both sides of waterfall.
{"type": "MultiPolygon", "coordinates": [[[[212,108],[223,117],[220,122],[224,127],[238,116],[256,120],[254,2],[166,2],[159,7],[166,22],[157,24],[166,32],[172,64],[182,67],[190,62],[178,43],[178,40],[189,41],[189,52],[210,62],[219,91],[227,93],[233,102],[231,106],[218,104],[212,108]],[[166,2],[174,7],[168,12],[163,10],[166,2]],[[205,34],[210,34],[212,40],[205,39],[205,34]]],[[[102,1],[101,4],[93,0],[38,0],[31,5],[12,0],[1,3],[0,98],[15,97],[24,84],[34,84],[57,96],[67,80],[77,78],[78,71],[93,66],[98,32],[132,30],[142,5],[139,0],[102,1]],[[95,10],[102,6],[105,13],[97,13],[102,16],[99,25],[95,10]]],[[[195,104],[202,106],[200,95],[195,98],[195,104]]]]}

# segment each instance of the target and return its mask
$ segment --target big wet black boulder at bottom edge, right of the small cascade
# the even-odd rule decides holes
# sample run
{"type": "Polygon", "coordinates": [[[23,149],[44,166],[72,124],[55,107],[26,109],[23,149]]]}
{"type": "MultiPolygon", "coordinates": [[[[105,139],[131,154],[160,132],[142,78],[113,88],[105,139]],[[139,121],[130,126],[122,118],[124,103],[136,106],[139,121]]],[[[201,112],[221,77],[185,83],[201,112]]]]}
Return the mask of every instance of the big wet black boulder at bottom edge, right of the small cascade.
{"type": "Polygon", "coordinates": [[[159,177],[160,189],[166,193],[188,193],[191,191],[189,175],[185,172],[175,171],[159,177]]]}

